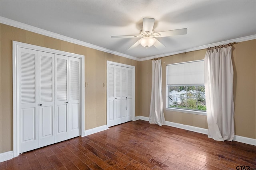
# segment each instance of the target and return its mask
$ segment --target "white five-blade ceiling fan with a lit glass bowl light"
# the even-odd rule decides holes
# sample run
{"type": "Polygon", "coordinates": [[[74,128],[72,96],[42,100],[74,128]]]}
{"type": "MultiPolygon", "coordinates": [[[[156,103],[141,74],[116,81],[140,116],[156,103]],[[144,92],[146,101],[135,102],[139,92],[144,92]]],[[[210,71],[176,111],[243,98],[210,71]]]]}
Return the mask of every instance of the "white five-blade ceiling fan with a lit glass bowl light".
{"type": "Polygon", "coordinates": [[[140,38],[134,45],[132,45],[129,49],[133,49],[141,44],[143,47],[151,47],[154,45],[157,49],[164,49],[165,46],[160,43],[156,38],[157,37],[168,37],[174,35],[184,35],[187,34],[188,29],[174,29],[169,31],[162,31],[162,32],[154,32],[154,18],[143,18],[143,29],[140,30],[139,35],[119,35],[119,36],[111,36],[111,38],[140,38]]]}

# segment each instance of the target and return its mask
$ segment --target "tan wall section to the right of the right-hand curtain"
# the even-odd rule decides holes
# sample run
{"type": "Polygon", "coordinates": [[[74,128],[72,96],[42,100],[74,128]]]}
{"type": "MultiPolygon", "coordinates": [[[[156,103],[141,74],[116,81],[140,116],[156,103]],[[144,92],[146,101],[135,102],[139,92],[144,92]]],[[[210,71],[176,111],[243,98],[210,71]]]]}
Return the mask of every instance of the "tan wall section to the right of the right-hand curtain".
{"type": "Polygon", "coordinates": [[[234,45],[235,134],[256,139],[256,40],[234,45]]]}

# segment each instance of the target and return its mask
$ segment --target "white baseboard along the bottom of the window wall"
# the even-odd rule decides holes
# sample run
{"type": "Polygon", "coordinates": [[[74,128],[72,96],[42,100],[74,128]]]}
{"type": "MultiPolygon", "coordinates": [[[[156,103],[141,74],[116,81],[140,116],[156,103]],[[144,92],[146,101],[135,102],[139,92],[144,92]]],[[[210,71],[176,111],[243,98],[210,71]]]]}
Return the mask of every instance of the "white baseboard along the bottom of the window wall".
{"type": "MultiPolygon", "coordinates": [[[[144,120],[144,121],[149,121],[149,117],[144,117],[144,116],[136,116],[136,120],[138,120],[138,119],[144,120]]],[[[165,123],[166,123],[167,126],[177,127],[177,128],[180,128],[180,129],[185,129],[185,130],[188,130],[188,131],[208,135],[208,129],[195,127],[195,126],[190,126],[190,125],[183,125],[183,124],[180,124],[180,123],[174,123],[174,122],[170,122],[170,121],[165,121],[165,123]]],[[[242,136],[235,135],[233,141],[256,146],[256,139],[252,139],[252,138],[248,138],[248,137],[242,137],[242,136]]]]}

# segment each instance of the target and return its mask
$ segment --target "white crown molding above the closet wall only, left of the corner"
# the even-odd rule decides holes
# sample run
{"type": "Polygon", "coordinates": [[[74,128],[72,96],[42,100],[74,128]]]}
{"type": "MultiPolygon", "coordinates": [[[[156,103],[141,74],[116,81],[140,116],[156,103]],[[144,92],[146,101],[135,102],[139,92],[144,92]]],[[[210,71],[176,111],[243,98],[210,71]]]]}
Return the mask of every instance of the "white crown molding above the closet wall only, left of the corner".
{"type": "Polygon", "coordinates": [[[74,43],[74,44],[77,44],[77,45],[82,45],[84,47],[96,49],[96,50],[103,51],[103,52],[106,52],[106,53],[110,53],[110,54],[118,55],[118,56],[125,57],[125,58],[128,58],[128,59],[139,61],[139,59],[137,57],[133,57],[133,56],[126,55],[126,54],[123,54],[123,53],[119,53],[117,51],[106,49],[106,48],[103,48],[103,47],[100,47],[100,46],[97,46],[97,45],[86,43],[84,41],[80,41],[80,40],[77,40],[77,39],[66,37],[64,35],[53,33],[51,31],[46,31],[44,29],[40,29],[38,27],[34,27],[34,26],[31,26],[31,25],[28,25],[28,24],[25,24],[25,23],[21,23],[21,22],[18,22],[18,21],[10,20],[8,18],[0,17],[0,23],[10,25],[10,26],[13,26],[13,27],[17,27],[17,28],[20,28],[20,29],[24,29],[24,30],[27,30],[27,31],[31,31],[31,32],[34,32],[34,33],[38,33],[38,34],[41,34],[41,35],[45,35],[45,36],[48,36],[48,37],[52,37],[52,38],[60,39],[60,40],[63,40],[63,41],[67,41],[67,42],[74,43]]]}

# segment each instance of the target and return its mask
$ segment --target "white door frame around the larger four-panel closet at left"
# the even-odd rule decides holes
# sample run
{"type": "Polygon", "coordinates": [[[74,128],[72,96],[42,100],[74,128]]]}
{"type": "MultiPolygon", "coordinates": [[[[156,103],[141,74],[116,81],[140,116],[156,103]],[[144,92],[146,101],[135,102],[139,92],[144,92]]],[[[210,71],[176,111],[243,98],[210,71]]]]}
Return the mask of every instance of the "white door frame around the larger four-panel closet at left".
{"type": "Polygon", "coordinates": [[[13,157],[16,157],[19,155],[20,147],[19,147],[19,98],[20,98],[20,89],[19,89],[19,47],[21,48],[27,48],[27,49],[33,49],[37,51],[43,51],[46,53],[54,53],[58,55],[65,55],[70,57],[75,57],[81,59],[81,115],[80,115],[80,135],[83,137],[85,136],[85,82],[84,82],[84,55],[78,55],[74,53],[68,53],[64,51],[59,51],[55,49],[49,49],[46,47],[40,47],[37,45],[31,45],[26,43],[21,43],[18,41],[12,41],[12,84],[13,84],[13,157]]]}

